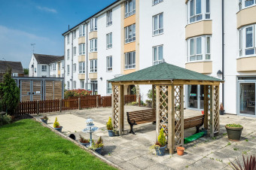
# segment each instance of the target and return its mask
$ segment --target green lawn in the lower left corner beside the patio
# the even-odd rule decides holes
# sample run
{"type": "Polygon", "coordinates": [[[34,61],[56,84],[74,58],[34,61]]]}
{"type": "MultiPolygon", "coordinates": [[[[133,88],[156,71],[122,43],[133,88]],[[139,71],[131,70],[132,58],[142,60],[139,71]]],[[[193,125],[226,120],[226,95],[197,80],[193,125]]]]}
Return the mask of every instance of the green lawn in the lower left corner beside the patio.
{"type": "Polygon", "coordinates": [[[114,169],[35,120],[0,126],[2,169],[114,169]]]}

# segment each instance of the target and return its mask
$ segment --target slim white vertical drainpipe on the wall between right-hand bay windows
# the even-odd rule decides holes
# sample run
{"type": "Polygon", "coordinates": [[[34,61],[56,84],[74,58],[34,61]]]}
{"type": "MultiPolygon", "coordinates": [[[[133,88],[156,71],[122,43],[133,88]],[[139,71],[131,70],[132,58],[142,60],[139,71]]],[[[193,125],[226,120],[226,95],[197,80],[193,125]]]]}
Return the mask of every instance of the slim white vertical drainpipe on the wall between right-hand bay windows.
{"type": "MultiPolygon", "coordinates": [[[[222,80],[224,80],[224,0],[222,0],[222,80]]],[[[224,106],[224,83],[222,83],[222,104],[224,106]]]]}

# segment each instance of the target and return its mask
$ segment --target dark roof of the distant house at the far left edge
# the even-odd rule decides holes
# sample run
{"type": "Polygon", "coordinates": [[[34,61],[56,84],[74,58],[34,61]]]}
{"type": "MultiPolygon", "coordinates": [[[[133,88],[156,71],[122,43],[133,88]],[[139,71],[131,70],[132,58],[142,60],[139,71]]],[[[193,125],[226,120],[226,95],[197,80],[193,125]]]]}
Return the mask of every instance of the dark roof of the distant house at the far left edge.
{"type": "Polygon", "coordinates": [[[8,66],[12,69],[12,73],[24,74],[23,65],[21,64],[21,62],[0,61],[0,72],[5,73],[8,66]]]}

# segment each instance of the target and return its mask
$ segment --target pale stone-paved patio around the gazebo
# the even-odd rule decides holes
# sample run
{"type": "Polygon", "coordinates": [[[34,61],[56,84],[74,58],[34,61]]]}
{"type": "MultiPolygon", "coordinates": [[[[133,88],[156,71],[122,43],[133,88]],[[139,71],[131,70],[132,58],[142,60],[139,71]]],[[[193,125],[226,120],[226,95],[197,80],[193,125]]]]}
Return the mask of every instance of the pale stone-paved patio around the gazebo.
{"type": "MultiPolygon", "coordinates": [[[[139,111],[147,108],[126,105],[124,111],[139,111]]],[[[184,118],[200,115],[200,111],[184,110],[184,118]]],[[[110,138],[106,130],[106,122],[111,117],[111,108],[92,108],[81,111],[66,111],[62,113],[50,113],[48,125],[53,126],[55,117],[63,126],[63,133],[74,133],[77,138],[83,135],[89,138],[89,134],[81,132],[85,128],[87,118],[94,120],[99,130],[93,133],[93,138],[102,136],[105,147],[102,155],[123,169],[231,169],[230,161],[236,158],[241,160],[242,154],[249,156],[256,154],[256,119],[252,117],[239,117],[236,115],[220,116],[220,132],[216,138],[203,137],[190,144],[185,144],[184,156],[169,155],[155,156],[149,147],[154,144],[156,138],[155,125],[146,123],[135,126],[136,135],[129,134],[129,124],[124,117],[124,129],[126,135],[110,138]],[[241,141],[229,141],[224,125],[227,123],[240,123],[244,126],[241,141]]],[[[38,118],[41,116],[38,116],[38,118]]],[[[184,136],[190,136],[196,132],[195,128],[184,131],[184,136]]]]}

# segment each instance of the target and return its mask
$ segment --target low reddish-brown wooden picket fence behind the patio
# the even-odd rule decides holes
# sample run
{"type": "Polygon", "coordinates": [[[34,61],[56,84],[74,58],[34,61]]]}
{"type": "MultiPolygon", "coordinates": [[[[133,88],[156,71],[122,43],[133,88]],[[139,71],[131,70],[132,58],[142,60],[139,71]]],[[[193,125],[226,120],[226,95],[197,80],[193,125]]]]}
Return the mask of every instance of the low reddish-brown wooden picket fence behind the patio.
{"type": "MultiPolygon", "coordinates": [[[[125,96],[125,103],[136,102],[136,96],[125,96]]],[[[39,114],[55,111],[69,111],[82,108],[111,107],[111,96],[87,96],[83,98],[56,99],[20,102],[16,114],[39,114]]]]}

